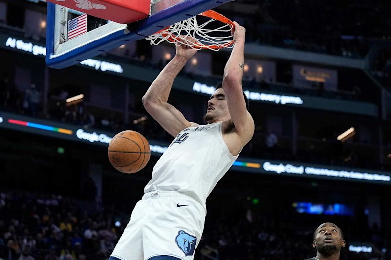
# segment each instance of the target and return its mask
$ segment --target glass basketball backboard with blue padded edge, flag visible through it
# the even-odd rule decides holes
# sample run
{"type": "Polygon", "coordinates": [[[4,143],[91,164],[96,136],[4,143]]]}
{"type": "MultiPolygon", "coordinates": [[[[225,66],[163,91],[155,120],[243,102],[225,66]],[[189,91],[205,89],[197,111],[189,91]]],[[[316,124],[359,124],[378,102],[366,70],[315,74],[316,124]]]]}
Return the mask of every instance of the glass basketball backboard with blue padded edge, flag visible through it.
{"type": "MultiPolygon", "coordinates": [[[[75,0],[78,1],[80,0],[75,0]]],[[[161,0],[151,3],[150,14],[146,18],[130,24],[90,15],[86,18],[82,16],[83,11],[86,12],[82,8],[74,10],[48,2],[46,64],[57,69],[72,66],[127,42],[144,39],[162,28],[230,1],[232,0],[161,0]],[[82,19],[87,19],[84,32],[76,37],[68,37],[71,28],[68,26],[73,25],[75,20],[82,19]]]]}

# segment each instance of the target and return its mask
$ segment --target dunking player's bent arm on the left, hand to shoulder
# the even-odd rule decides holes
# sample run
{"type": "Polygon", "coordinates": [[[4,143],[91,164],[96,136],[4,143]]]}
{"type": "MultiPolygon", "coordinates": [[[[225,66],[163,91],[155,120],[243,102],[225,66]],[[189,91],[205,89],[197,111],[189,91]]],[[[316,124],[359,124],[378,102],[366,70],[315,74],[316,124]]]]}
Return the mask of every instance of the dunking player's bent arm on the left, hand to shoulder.
{"type": "MultiPolygon", "coordinates": [[[[194,39],[192,40],[195,42],[194,39]]],[[[179,110],[167,103],[174,79],[186,64],[186,61],[196,52],[197,50],[192,49],[189,46],[183,44],[177,45],[175,57],[152,82],[142,99],[147,112],[164,128],[164,130],[174,137],[183,129],[192,125],[197,125],[187,121],[179,110]]]]}

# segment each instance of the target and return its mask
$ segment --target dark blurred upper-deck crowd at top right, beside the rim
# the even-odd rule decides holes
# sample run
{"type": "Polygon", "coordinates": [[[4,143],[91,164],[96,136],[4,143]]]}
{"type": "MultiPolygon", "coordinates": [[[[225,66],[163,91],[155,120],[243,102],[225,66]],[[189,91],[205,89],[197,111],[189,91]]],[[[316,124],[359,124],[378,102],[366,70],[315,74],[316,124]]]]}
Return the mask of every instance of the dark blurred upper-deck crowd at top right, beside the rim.
{"type": "Polygon", "coordinates": [[[246,39],[250,42],[363,58],[369,51],[370,39],[391,36],[388,1],[239,2],[254,8],[242,15],[235,11],[224,14],[244,22],[246,39]]]}

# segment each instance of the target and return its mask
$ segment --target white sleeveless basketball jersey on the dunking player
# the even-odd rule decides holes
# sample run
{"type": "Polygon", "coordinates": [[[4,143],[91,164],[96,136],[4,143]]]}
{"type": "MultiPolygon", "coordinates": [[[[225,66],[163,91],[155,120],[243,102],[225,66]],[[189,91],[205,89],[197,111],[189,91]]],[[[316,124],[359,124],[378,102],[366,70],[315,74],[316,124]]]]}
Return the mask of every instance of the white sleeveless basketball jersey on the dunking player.
{"type": "Polygon", "coordinates": [[[192,193],[205,207],[206,198],[238,158],[222,137],[222,122],[184,129],[153,167],[144,192],[192,193]]]}

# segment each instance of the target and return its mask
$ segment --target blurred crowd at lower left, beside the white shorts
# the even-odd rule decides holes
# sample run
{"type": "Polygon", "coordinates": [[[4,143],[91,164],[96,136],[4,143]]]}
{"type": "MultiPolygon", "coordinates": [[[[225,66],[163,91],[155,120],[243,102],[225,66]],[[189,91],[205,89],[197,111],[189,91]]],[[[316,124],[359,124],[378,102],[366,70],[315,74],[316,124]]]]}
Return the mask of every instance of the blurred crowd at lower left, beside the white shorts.
{"type": "Polygon", "coordinates": [[[0,259],[108,259],[123,230],[111,214],[91,212],[61,196],[2,192],[0,259]]]}

